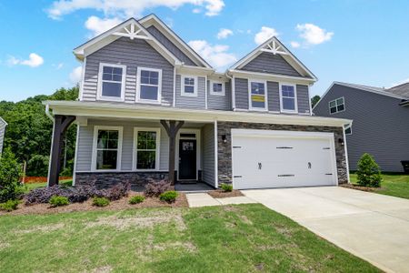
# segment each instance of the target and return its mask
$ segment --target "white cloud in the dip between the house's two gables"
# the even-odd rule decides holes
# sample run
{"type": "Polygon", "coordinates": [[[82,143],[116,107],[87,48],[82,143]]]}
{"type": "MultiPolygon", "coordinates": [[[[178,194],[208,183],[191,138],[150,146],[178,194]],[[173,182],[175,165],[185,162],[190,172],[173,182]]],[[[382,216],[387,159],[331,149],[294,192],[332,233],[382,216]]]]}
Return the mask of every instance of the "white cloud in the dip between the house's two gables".
{"type": "Polygon", "coordinates": [[[190,41],[188,44],[217,70],[222,70],[237,61],[234,54],[227,52],[228,45],[210,45],[205,40],[190,41]]]}

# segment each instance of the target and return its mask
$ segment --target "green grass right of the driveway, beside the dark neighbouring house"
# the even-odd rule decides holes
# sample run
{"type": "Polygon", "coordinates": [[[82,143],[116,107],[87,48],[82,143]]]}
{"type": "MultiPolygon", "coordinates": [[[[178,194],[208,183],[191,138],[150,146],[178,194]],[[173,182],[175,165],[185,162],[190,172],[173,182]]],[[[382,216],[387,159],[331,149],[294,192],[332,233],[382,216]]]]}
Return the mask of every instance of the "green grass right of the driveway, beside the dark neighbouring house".
{"type": "MultiPolygon", "coordinates": [[[[350,177],[351,182],[356,184],[356,174],[351,174],[350,177]]],[[[381,183],[381,188],[374,192],[409,199],[409,175],[383,174],[382,177],[384,180],[381,183]]]]}

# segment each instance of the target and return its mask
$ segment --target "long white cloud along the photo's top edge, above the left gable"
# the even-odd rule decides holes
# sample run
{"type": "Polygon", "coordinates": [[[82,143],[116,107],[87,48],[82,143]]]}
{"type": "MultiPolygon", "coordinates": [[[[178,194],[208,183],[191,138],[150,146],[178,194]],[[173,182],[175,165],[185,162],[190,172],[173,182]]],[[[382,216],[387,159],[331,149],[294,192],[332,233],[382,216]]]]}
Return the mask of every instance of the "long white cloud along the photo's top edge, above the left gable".
{"type": "Polygon", "coordinates": [[[96,9],[110,17],[140,17],[146,9],[165,6],[177,9],[182,5],[205,8],[205,15],[219,15],[224,8],[223,0],[57,0],[46,10],[53,19],[74,13],[81,9],[96,9]]]}

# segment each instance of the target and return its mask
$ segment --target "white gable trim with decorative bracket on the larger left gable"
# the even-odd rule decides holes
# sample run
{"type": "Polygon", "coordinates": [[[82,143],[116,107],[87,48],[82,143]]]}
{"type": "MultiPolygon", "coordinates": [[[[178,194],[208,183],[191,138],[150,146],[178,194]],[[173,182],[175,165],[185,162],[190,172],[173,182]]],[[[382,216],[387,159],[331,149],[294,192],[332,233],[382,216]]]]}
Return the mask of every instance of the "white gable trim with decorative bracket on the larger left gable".
{"type": "Polygon", "coordinates": [[[83,45],[74,49],[74,54],[78,59],[84,59],[105,45],[109,45],[120,37],[129,37],[130,39],[144,39],[149,45],[155,48],[162,56],[173,65],[181,65],[181,62],[159,41],[151,35],[143,25],[135,18],[130,18],[125,22],[97,35],[83,45]]]}

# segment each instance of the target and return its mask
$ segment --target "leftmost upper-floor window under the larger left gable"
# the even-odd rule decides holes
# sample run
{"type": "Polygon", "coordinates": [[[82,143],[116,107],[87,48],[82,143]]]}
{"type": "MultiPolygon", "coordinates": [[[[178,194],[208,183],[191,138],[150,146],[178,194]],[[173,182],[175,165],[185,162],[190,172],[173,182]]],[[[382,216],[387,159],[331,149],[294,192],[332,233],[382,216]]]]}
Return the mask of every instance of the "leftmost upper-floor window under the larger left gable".
{"type": "Polygon", "coordinates": [[[125,71],[122,65],[99,65],[98,99],[124,100],[125,71]]]}

